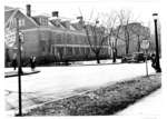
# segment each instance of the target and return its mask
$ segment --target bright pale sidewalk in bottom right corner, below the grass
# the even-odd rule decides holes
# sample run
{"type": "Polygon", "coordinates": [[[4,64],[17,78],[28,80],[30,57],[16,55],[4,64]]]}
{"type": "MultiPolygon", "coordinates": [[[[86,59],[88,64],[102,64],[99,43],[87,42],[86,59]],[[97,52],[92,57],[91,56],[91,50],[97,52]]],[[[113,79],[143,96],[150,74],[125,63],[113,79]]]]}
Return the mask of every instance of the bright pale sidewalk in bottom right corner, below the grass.
{"type": "Polygon", "coordinates": [[[161,89],[116,113],[116,116],[159,117],[161,109],[161,89]]]}

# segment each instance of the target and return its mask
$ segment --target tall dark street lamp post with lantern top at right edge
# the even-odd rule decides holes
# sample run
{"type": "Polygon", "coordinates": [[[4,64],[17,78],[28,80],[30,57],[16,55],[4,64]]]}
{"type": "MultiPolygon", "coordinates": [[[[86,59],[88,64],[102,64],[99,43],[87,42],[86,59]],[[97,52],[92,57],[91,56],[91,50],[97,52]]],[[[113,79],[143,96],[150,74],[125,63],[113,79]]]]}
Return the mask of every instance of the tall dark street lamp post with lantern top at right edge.
{"type": "Polygon", "coordinates": [[[156,40],[156,71],[161,72],[160,63],[159,63],[159,46],[158,46],[158,31],[157,31],[157,17],[158,13],[153,13],[154,22],[155,22],[155,40],[156,40]]]}

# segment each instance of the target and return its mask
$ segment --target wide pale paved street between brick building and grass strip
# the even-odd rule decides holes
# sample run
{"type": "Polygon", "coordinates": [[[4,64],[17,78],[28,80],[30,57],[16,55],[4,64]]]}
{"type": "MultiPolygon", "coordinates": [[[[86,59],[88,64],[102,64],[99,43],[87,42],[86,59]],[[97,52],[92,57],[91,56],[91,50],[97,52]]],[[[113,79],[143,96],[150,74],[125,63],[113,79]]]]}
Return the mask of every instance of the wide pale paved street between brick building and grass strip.
{"type": "MultiPolygon", "coordinates": [[[[155,73],[148,63],[148,72],[155,73]]],[[[90,88],[146,75],[146,63],[76,67],[38,67],[40,73],[22,76],[23,109],[68,97],[90,88]]],[[[6,71],[12,69],[6,69],[6,71]]],[[[24,68],[23,71],[30,70],[24,68]]],[[[18,108],[18,77],[6,78],[7,110],[18,108]]]]}

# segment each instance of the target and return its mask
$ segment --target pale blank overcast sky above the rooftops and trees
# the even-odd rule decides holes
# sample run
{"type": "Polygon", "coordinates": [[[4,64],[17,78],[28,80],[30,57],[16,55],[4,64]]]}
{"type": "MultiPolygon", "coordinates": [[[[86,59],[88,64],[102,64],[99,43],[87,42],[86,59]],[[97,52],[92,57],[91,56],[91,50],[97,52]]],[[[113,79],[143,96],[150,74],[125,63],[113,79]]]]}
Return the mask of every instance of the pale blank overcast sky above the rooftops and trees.
{"type": "Polygon", "coordinates": [[[59,11],[60,17],[76,19],[80,11],[85,18],[101,13],[110,13],[112,10],[131,10],[134,19],[148,23],[153,20],[153,12],[159,12],[159,0],[4,0],[4,6],[26,9],[31,4],[32,16],[59,11]]]}

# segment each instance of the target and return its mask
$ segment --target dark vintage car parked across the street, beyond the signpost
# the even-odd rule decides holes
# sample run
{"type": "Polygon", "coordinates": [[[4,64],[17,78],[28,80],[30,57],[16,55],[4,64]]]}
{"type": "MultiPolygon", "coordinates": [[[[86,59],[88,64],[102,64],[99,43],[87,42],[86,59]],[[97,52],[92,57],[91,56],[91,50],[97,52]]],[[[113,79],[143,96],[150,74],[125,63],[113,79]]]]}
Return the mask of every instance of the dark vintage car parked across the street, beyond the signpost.
{"type": "Polygon", "coordinates": [[[145,53],[144,52],[135,52],[132,54],[128,54],[121,58],[121,62],[145,62],[145,53]]]}

